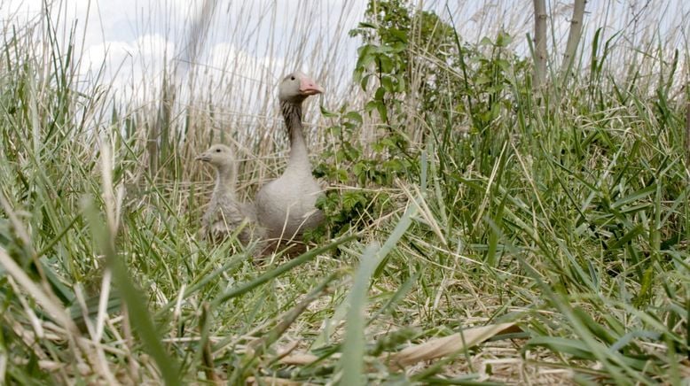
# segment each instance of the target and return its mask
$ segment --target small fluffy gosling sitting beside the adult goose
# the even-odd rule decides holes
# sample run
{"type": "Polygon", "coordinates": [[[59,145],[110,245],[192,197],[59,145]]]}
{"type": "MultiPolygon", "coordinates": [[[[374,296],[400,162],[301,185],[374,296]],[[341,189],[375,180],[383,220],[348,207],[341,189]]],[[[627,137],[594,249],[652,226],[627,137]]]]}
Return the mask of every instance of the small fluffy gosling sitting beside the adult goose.
{"type": "Polygon", "coordinates": [[[255,205],[240,203],[237,199],[237,164],[231,149],[222,144],[215,144],[196,159],[208,162],[216,169],[216,186],[201,220],[202,235],[212,240],[223,239],[244,224],[238,235],[239,241],[247,243],[252,238],[263,237],[263,231],[256,221],[255,205]]]}

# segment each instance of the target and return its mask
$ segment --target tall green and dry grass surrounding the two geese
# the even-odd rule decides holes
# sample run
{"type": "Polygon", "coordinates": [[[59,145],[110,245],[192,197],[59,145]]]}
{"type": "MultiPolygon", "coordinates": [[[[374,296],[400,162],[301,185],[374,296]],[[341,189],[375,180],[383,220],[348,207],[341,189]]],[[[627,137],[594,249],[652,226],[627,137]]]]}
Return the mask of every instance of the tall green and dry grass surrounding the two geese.
{"type": "MultiPolygon", "coordinates": [[[[153,3],[142,32],[181,22],[185,33],[165,36],[174,52],[124,83],[87,62],[67,4],[3,21],[0,380],[687,379],[687,13],[595,4],[604,11],[587,19],[572,77],[537,97],[528,12],[427,4],[452,26],[443,49],[463,65],[412,35],[402,55],[417,60],[415,81],[387,125],[364,112],[374,89],[343,70],[357,61],[360,42],[346,35],[364,6],[290,4],[203,2],[196,19],[156,19],[153,3]],[[224,18],[234,27],[214,29],[224,18]],[[510,42],[498,43],[499,26],[510,42]],[[208,47],[225,36],[234,48],[215,58],[208,47]],[[317,156],[346,144],[393,165],[401,153],[370,144],[392,125],[410,139],[409,164],[389,184],[326,181],[388,197],[385,211],[295,259],[259,262],[255,245],[198,237],[211,185],[191,159],[209,143],[236,146],[243,198],[278,175],[286,137],[274,86],[294,67],[329,90],[305,114],[315,165],[357,166],[317,156]],[[410,90],[427,79],[447,89],[419,111],[424,90],[410,90]],[[318,104],[336,113],[319,116],[318,104]],[[363,120],[344,127],[349,110],[363,120]],[[517,328],[443,359],[391,360],[505,321],[517,328]]],[[[552,68],[566,11],[550,9],[552,68]]]]}

